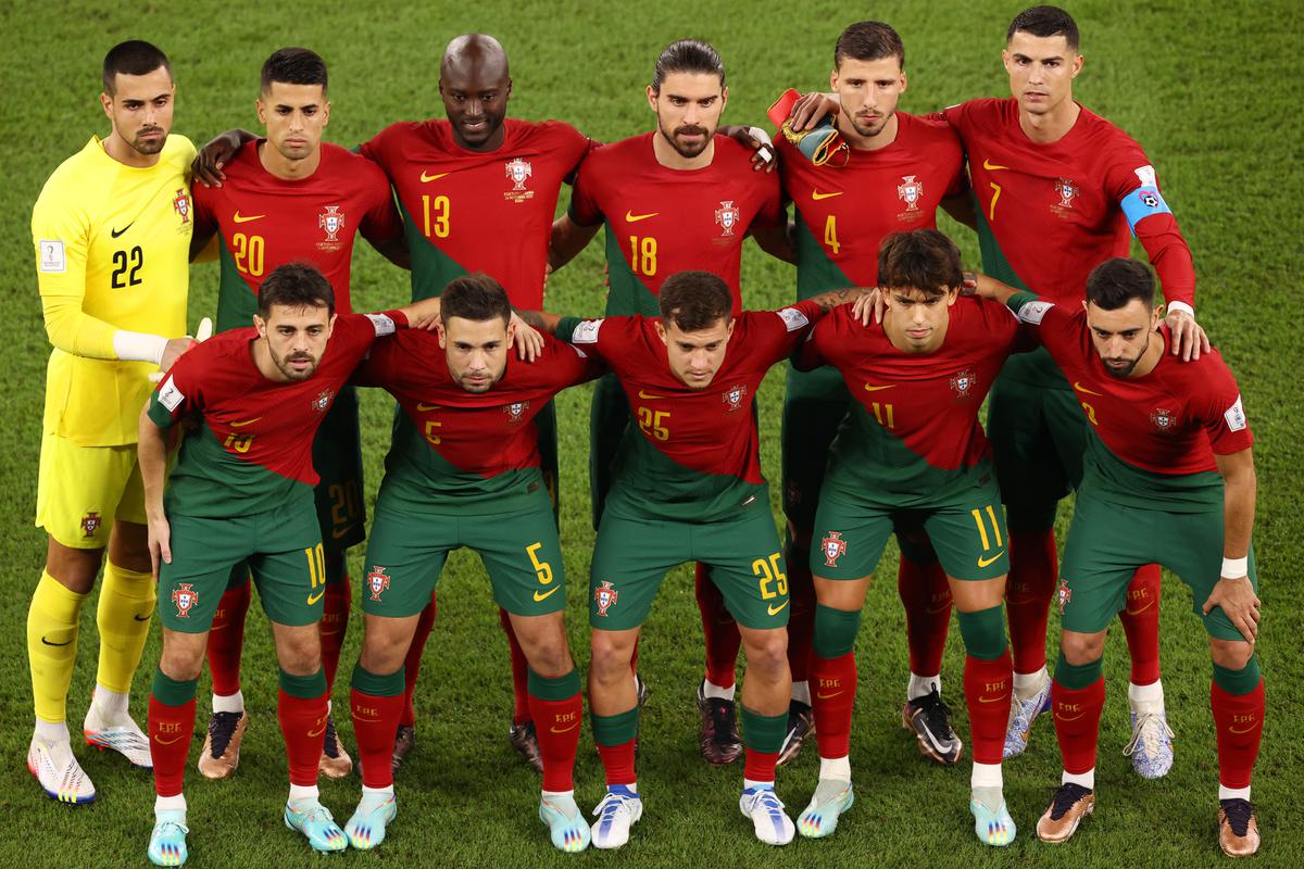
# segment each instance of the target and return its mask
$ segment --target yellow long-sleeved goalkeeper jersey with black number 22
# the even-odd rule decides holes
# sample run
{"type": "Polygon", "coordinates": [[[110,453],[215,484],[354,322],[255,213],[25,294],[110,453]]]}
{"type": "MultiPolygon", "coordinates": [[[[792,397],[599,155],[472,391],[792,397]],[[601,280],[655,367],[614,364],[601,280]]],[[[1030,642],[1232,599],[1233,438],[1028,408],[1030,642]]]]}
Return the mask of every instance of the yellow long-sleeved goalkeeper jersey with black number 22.
{"type": "Polygon", "coordinates": [[[194,145],[168,135],[159,162],[123,165],[93,135],[46,181],[31,214],[46,332],[44,431],[87,447],[136,443],[149,362],[120,361],[117,330],[185,334],[194,145]]]}

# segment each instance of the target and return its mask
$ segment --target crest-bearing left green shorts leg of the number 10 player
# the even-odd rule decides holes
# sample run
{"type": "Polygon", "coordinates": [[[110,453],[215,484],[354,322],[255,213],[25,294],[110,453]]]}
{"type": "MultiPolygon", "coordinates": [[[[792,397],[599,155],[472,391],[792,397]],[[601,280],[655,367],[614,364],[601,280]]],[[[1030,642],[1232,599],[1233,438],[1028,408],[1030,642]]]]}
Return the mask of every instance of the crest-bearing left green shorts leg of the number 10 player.
{"type": "Polygon", "coordinates": [[[213,625],[233,564],[250,554],[254,520],[168,516],[172,562],[159,564],[159,619],[179,633],[213,625]]]}

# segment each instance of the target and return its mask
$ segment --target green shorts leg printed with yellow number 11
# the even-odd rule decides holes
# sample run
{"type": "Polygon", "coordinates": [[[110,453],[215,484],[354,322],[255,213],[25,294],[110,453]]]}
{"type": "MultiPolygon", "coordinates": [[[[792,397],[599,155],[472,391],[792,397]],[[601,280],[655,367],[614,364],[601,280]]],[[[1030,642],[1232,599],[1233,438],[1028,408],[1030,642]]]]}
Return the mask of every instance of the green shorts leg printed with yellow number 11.
{"type": "Polygon", "coordinates": [[[923,520],[941,569],[957,580],[994,580],[1009,573],[1009,530],[996,481],[974,486],[956,503],[923,520]]]}

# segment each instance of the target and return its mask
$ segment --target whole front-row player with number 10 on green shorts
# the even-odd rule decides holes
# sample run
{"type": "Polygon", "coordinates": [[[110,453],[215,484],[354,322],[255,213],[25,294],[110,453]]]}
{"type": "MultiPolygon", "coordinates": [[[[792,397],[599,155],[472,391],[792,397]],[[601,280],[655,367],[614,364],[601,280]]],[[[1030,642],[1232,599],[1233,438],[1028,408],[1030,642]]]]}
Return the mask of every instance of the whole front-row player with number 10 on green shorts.
{"type": "Polygon", "coordinates": [[[280,266],[258,288],[252,327],[223,332],[173,366],[140,413],[150,552],[163,599],[163,651],[150,697],[155,825],[149,857],[186,857],[181,784],[194,734],[194,687],[231,569],[248,562],[279,662],[276,713],[289,765],[284,821],[316,851],[344,834],[317,799],[326,734],[319,625],[326,556],[313,507],[313,436],[378,335],[422,322],[433,305],[335,314],[312,266],[280,266]],[[329,344],[327,344],[329,341],[329,344]],[[329,352],[327,352],[329,349],[329,352]],[[167,485],[166,430],[189,420],[167,485]]]}

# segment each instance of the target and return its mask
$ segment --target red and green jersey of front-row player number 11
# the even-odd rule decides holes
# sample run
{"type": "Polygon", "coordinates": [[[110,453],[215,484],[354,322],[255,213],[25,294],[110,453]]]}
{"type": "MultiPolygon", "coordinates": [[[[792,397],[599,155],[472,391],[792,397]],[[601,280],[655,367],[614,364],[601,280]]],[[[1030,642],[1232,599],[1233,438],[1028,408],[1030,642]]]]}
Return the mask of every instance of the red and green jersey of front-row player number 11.
{"type": "Polygon", "coordinates": [[[1005,358],[1033,347],[1020,335],[1008,307],[961,296],[941,347],[906,353],[882,323],[862,326],[849,307],[833,310],[797,361],[836,367],[853,396],[824,489],[893,507],[938,506],[970,491],[991,473],[978,409],[1005,358]]]}

